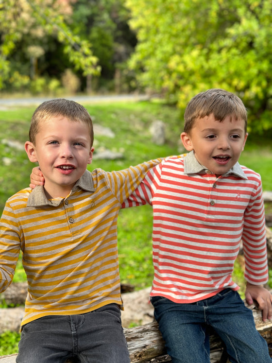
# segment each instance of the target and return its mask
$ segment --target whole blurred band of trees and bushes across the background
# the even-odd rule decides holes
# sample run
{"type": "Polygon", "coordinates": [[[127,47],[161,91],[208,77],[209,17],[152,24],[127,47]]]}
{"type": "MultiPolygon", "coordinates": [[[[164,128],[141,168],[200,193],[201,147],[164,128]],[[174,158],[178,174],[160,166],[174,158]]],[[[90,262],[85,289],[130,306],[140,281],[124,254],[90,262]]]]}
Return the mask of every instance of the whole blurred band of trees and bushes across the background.
{"type": "Polygon", "coordinates": [[[272,129],[271,0],[0,0],[0,90],[238,94],[272,129]]]}

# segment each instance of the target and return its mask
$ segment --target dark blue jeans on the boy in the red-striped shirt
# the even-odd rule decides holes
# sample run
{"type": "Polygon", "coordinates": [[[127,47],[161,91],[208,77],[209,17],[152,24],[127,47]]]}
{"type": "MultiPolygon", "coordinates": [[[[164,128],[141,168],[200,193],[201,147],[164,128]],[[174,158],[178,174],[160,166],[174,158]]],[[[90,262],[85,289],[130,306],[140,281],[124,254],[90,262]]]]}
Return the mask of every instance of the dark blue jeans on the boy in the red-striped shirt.
{"type": "Polygon", "coordinates": [[[190,304],[153,296],[154,316],[172,363],[210,362],[207,329],[212,327],[226,346],[233,363],[271,363],[268,346],[255,328],[252,311],[236,291],[190,304]]]}

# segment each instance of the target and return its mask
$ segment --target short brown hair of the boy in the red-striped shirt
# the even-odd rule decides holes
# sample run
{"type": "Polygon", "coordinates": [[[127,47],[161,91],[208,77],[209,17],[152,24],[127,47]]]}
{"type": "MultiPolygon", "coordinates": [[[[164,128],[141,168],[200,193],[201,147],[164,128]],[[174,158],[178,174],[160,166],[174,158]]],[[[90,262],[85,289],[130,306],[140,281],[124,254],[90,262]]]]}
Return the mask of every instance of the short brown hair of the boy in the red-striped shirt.
{"type": "Polygon", "coordinates": [[[245,121],[247,132],[247,110],[241,99],[234,93],[220,88],[211,88],[194,96],[187,104],[184,114],[184,131],[189,133],[197,118],[213,114],[215,120],[223,121],[227,116],[245,121]]]}

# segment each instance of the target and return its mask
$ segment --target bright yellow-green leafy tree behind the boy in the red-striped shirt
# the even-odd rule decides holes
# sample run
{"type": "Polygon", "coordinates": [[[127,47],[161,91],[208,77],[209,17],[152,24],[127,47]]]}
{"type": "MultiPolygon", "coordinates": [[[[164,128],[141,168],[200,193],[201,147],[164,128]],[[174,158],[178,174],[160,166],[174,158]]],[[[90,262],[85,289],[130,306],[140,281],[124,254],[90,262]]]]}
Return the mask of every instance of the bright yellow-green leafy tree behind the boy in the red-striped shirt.
{"type": "Polygon", "coordinates": [[[138,80],[181,109],[196,93],[225,88],[249,110],[249,129],[272,130],[270,0],[126,0],[138,44],[138,80]]]}

